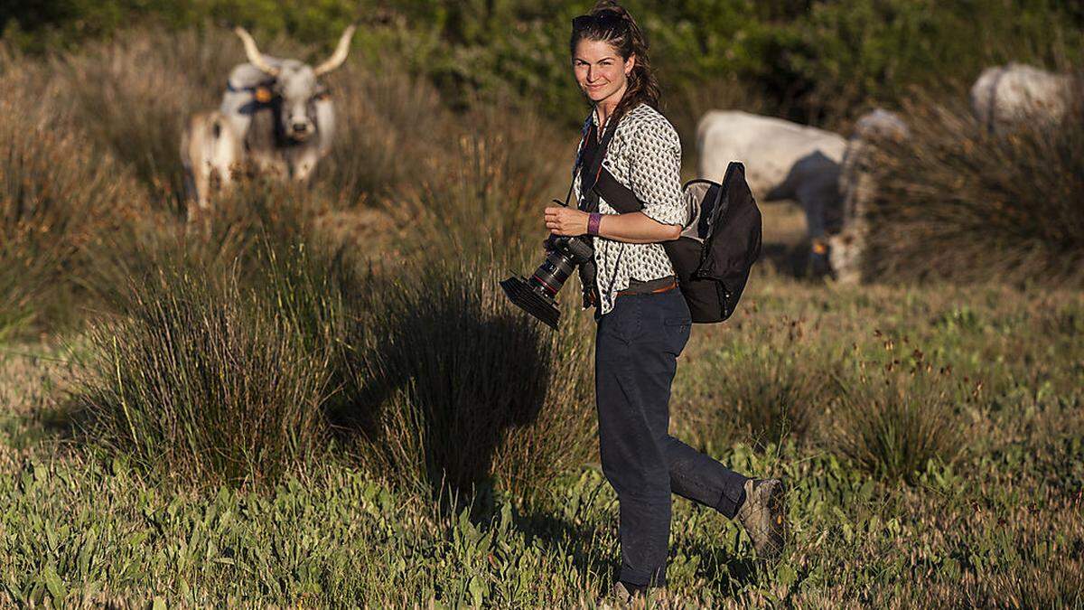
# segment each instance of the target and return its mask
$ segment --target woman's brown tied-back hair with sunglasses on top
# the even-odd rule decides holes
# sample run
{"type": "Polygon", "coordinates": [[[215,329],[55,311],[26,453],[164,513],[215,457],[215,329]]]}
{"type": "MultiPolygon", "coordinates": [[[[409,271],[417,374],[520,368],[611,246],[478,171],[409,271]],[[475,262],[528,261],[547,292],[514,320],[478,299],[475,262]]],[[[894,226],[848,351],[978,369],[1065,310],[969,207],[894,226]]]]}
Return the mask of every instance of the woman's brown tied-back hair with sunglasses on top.
{"type": "Polygon", "coordinates": [[[572,20],[571,54],[576,54],[576,46],[584,39],[608,42],[625,61],[636,55],[636,64],[629,74],[629,88],[614,112],[618,118],[641,103],[658,110],[659,81],[647,56],[647,37],[629,11],[616,0],[598,0],[588,15],[572,20]]]}

